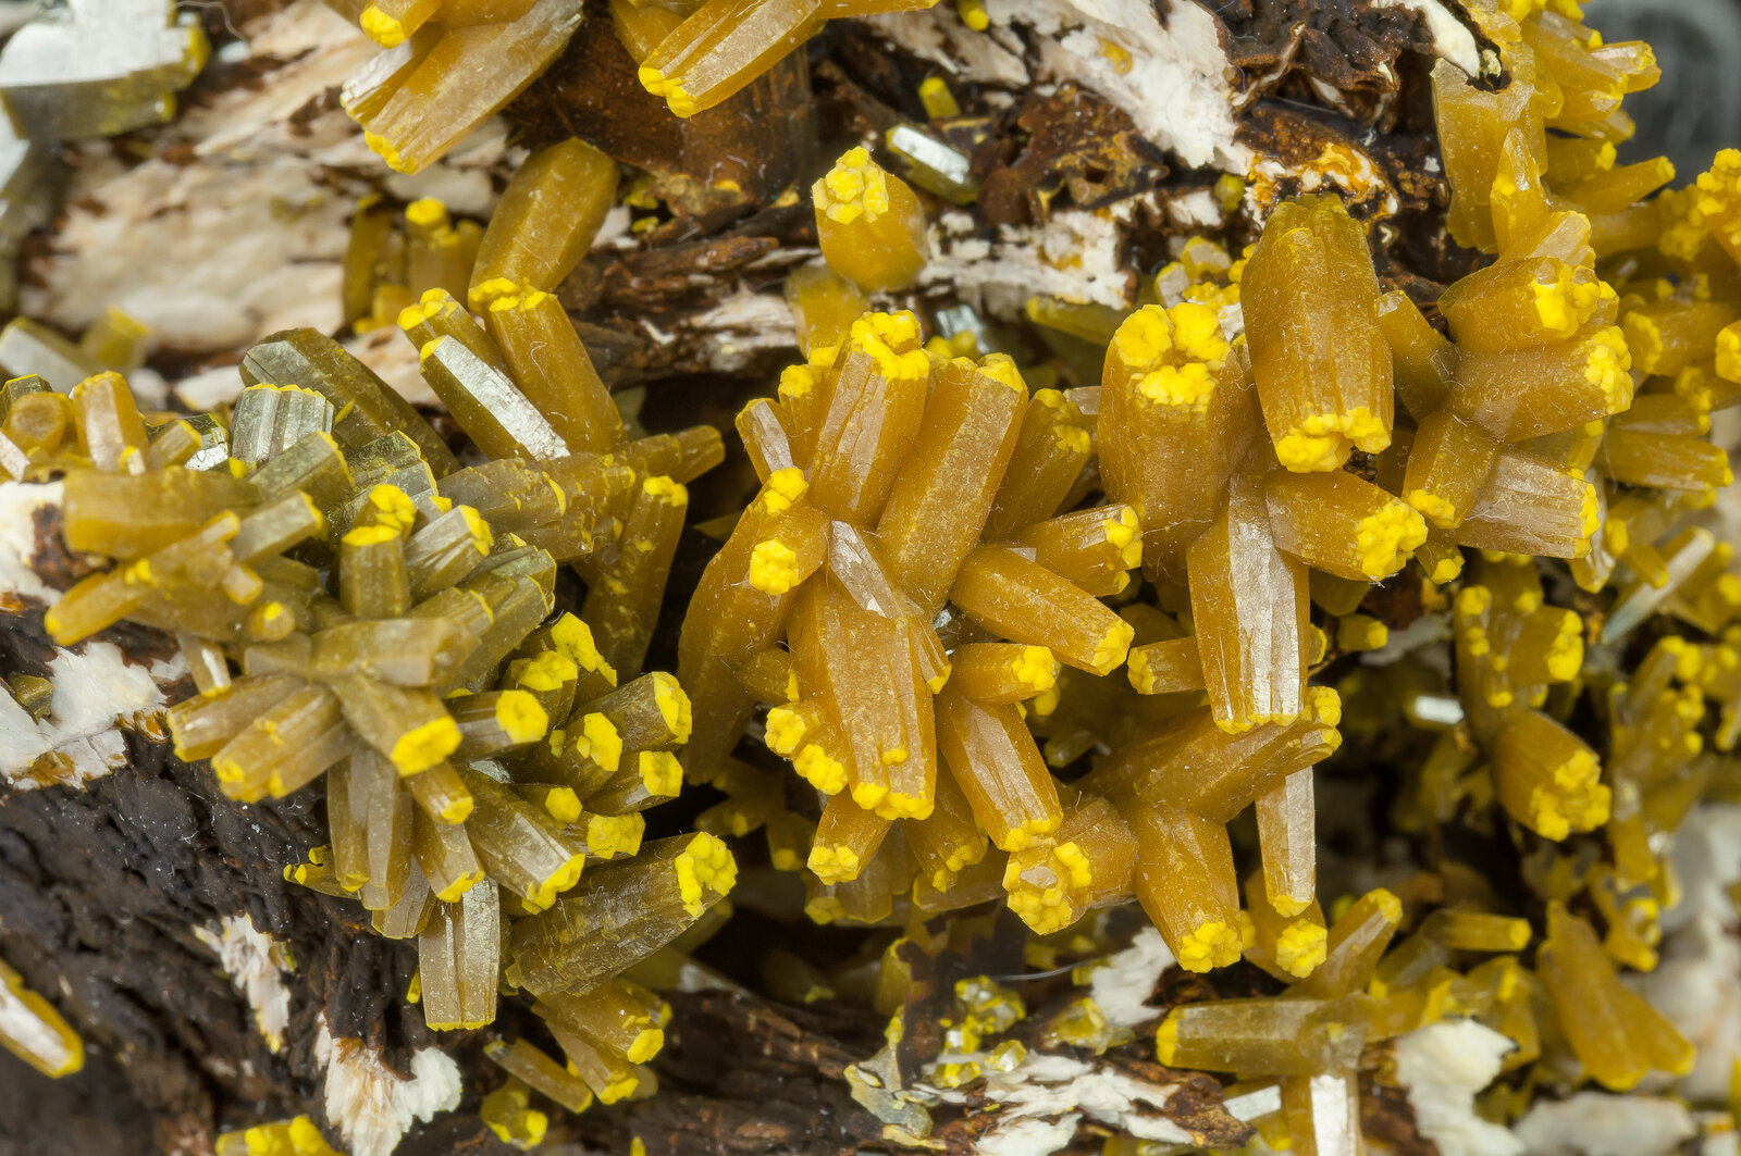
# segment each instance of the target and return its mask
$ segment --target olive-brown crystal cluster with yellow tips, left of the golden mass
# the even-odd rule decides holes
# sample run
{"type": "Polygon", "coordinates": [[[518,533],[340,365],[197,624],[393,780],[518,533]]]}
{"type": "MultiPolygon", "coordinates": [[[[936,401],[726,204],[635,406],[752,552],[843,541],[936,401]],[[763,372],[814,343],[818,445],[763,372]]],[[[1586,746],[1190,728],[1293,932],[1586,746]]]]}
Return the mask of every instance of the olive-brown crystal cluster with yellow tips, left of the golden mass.
{"type": "MultiPolygon", "coordinates": [[[[573,155],[526,165],[505,205],[573,155]]],[[[66,545],[113,561],[49,609],[54,641],[124,618],[172,632],[197,684],[169,710],[176,754],[240,801],[324,776],[331,841],[286,879],[416,938],[430,1027],[482,1027],[500,991],[529,994],[566,1062],[526,1041],[491,1055],[575,1111],[642,1081],[665,1010],[622,973],[736,872],[705,832],[642,843],[691,717],[676,679],[639,670],[684,482],[723,446],[625,435],[548,292],[592,209],[543,198],[555,247],[505,239],[519,221],[498,214],[465,270],[487,327],[440,287],[397,319],[479,465],[313,331],[247,352],[226,423],[148,420],[101,373],[7,383],[3,425],[9,472],[61,479],[66,545]],[[578,613],[555,613],[559,566],[588,583],[578,613]]]]}

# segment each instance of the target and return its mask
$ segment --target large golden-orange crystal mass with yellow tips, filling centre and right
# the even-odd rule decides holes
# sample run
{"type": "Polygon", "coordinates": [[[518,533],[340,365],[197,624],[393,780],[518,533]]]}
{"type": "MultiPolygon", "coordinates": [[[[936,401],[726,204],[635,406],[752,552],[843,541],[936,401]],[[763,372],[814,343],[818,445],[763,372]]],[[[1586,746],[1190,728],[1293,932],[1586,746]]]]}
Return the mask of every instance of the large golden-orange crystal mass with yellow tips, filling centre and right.
{"type": "Polygon", "coordinates": [[[1647,200],[1671,167],[1616,167],[1614,143],[1649,49],[1603,45],[1567,5],[1482,19],[1511,82],[1433,77],[1452,235],[1494,254],[1436,303],[1449,336],[1381,291],[1339,198],[1307,197],[1238,259],[1187,244],[1116,324],[1099,388],[1029,393],[1003,355],[855,317],[912,282],[924,233],[898,178],[844,155],[815,190],[829,272],[787,286],[806,362],[738,420],[763,491],[684,623],[684,763],[729,794],[721,829],[766,825],[775,865],[804,869],[815,917],[1001,891],[1052,933],[1135,898],[1184,968],[1245,958],[1288,984],[1175,1010],[1158,1050],[1280,1078],[1304,1151],[1353,1151],[1367,1043],[1449,1013],[1509,1036],[1511,1067],[1569,1052],[1610,1088],[1692,1055],[1616,963],[1654,966],[1664,837],[1741,726],[1741,581],[1701,519],[1732,481],[1704,435],[1741,400],[1741,164],[1647,200]],[[1311,684],[1332,651],[1386,646],[1358,611],[1410,561],[1454,675],[1403,651],[1389,686],[1311,684]],[[1595,599],[1549,604],[1555,571],[1595,599]],[[1586,646],[1638,653],[1630,681],[1586,646]],[[1339,691],[1358,729],[1440,733],[1405,825],[1490,803],[1541,837],[1532,970],[1502,912],[1442,909],[1389,954],[1415,923],[1395,895],[1325,919],[1311,768],[1341,743],[1339,691]],[[1600,738],[1567,724],[1586,700],[1600,738]],[[726,759],[757,717],[820,818],[726,759]],[[1053,776],[1088,750],[1090,773],[1053,776]],[[1241,905],[1227,822],[1248,806],[1262,870],[1241,905]],[[1595,867],[1556,853],[1595,830],[1595,867]],[[1501,954],[1455,970],[1471,952],[1501,954]]]}

